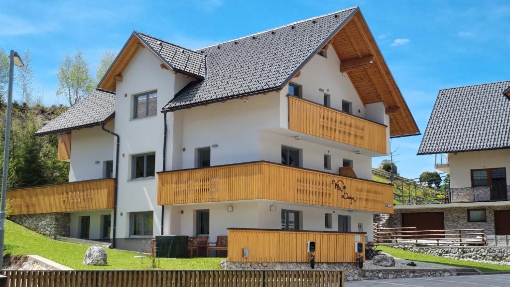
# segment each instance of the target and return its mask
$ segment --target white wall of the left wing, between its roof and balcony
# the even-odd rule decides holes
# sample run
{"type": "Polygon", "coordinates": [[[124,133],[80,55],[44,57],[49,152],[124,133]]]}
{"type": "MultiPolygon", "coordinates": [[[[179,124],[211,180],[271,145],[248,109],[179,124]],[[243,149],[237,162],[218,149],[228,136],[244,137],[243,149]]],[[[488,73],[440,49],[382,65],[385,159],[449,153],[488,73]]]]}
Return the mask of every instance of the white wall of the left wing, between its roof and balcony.
{"type": "MultiPolygon", "coordinates": [[[[105,127],[113,130],[114,121],[105,127]]],[[[69,181],[103,178],[104,162],[115,156],[114,142],[113,135],[99,126],[72,131],[69,181]]]]}

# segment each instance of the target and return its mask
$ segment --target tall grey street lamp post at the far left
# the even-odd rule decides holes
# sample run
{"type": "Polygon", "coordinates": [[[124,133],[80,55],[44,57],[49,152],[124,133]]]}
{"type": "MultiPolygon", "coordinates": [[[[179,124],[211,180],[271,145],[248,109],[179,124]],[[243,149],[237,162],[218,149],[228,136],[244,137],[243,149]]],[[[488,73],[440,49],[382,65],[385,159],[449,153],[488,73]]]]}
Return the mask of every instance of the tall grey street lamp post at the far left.
{"type": "Polygon", "coordinates": [[[11,138],[11,107],[12,107],[12,81],[14,77],[14,65],[23,66],[23,61],[17,52],[11,50],[9,55],[9,93],[7,97],[7,112],[5,115],[5,145],[4,145],[4,170],[2,175],[2,209],[0,210],[0,269],[4,267],[4,238],[5,238],[5,208],[7,197],[7,170],[9,169],[9,141],[11,138]]]}

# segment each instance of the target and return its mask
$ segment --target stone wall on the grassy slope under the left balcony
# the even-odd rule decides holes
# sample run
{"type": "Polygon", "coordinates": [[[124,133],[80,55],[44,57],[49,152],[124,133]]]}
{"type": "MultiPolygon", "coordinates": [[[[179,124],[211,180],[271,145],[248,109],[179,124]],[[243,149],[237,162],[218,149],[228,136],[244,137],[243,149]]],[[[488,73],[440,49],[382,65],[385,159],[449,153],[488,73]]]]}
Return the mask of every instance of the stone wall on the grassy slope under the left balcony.
{"type": "Polygon", "coordinates": [[[71,218],[69,213],[41,213],[10,216],[9,220],[51,238],[69,237],[71,218]]]}

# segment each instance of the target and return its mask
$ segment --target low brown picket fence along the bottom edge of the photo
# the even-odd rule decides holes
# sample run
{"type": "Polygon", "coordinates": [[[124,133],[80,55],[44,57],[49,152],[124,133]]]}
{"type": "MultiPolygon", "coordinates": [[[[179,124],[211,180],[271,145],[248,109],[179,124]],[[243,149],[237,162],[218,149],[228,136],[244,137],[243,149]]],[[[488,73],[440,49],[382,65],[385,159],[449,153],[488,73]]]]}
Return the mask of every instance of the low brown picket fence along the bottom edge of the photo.
{"type": "Polygon", "coordinates": [[[341,270],[2,271],[5,287],[312,287],[344,285],[341,270]]]}

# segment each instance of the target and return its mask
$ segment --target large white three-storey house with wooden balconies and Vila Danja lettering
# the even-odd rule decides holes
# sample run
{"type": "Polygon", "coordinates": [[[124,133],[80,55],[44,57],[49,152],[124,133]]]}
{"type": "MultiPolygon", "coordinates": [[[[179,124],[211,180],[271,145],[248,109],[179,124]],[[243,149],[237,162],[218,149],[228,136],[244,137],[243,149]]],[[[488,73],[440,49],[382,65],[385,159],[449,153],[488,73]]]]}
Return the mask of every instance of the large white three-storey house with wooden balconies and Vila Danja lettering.
{"type": "Polygon", "coordinates": [[[253,255],[270,230],[311,230],[300,242],[344,236],[331,254],[352,261],[373,213],[393,212],[372,157],[418,132],[358,8],[196,51],[134,32],[98,90],[37,132],[59,135],[72,183],[9,198],[13,214],[66,212],[70,236],[122,249],[228,235],[253,255]]]}

